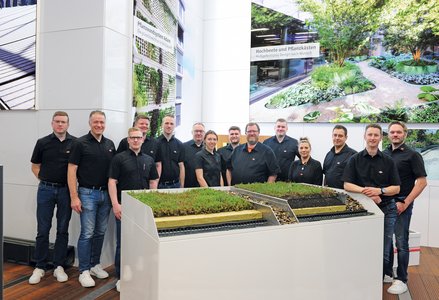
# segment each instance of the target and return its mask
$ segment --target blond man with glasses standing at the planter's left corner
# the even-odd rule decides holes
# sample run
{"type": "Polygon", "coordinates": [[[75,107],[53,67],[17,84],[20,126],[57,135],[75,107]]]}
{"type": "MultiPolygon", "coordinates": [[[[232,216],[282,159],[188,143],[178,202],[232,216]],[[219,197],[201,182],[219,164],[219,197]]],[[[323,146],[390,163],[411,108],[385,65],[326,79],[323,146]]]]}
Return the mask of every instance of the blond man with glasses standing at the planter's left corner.
{"type": "MultiPolygon", "coordinates": [[[[154,160],[141,151],[143,137],[139,128],[130,128],[128,130],[129,149],[118,153],[110,165],[108,192],[116,217],[116,255],[114,264],[118,279],[120,279],[121,191],[157,189],[157,179],[159,178],[154,160]]],[[[120,289],[119,284],[120,281],[118,280],[116,283],[117,291],[120,289]]]]}

